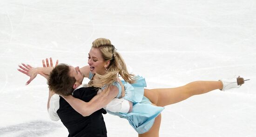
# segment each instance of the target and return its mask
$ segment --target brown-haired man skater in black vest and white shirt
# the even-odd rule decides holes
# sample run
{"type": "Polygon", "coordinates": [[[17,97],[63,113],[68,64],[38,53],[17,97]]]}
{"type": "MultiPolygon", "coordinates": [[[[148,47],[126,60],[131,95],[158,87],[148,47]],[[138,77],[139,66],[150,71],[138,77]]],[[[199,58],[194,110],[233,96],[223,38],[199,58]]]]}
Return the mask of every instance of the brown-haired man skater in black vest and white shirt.
{"type": "MultiPolygon", "coordinates": [[[[75,98],[80,98],[83,101],[89,102],[94,96],[97,95],[98,88],[95,87],[87,87],[86,85],[81,85],[80,82],[83,79],[83,75],[81,73],[76,73],[76,70],[74,67],[68,65],[58,65],[58,61],[56,62],[55,68],[51,71],[51,74],[53,78],[49,78],[49,75],[44,74],[47,73],[47,70],[50,68],[48,60],[47,66],[45,63],[43,63],[44,68],[41,68],[38,71],[42,76],[47,78],[49,85],[49,97],[47,102],[47,110],[50,119],[54,121],[58,121],[61,119],[61,122],[66,126],[68,130],[68,137],[107,137],[107,129],[104,122],[104,118],[102,116],[102,113],[106,113],[104,109],[99,109],[92,113],[90,116],[83,117],[81,114],[79,114],[77,111],[75,111],[65,99],[63,99],[61,96],[67,96],[67,95],[73,95],[75,98]],[[66,81],[65,83],[61,83],[61,81],[56,81],[56,75],[59,74],[65,74],[62,75],[63,77],[57,77],[58,79],[61,79],[62,81],[66,81]],[[77,80],[76,80],[77,79],[77,80]],[[69,92],[65,89],[71,81],[76,80],[76,84],[71,85],[71,89],[69,92]],[[64,89],[60,89],[60,87],[63,87],[64,89]],[[58,91],[55,89],[59,89],[62,92],[58,92],[56,94],[54,91],[58,91]]],[[[51,67],[53,68],[52,59],[50,59],[51,67]]],[[[35,70],[35,68],[31,67],[30,65],[23,64],[23,67],[20,66],[20,72],[27,74],[29,77],[31,77],[31,72],[35,70]],[[30,73],[29,73],[30,72],[30,73]]],[[[78,70],[79,71],[79,70],[78,70]]],[[[72,83],[72,82],[71,82],[72,83]]],[[[129,101],[125,99],[114,99],[112,100],[105,109],[108,111],[113,112],[122,112],[122,113],[128,113],[130,110],[129,101]],[[114,104],[114,106],[113,106],[114,104]]]]}

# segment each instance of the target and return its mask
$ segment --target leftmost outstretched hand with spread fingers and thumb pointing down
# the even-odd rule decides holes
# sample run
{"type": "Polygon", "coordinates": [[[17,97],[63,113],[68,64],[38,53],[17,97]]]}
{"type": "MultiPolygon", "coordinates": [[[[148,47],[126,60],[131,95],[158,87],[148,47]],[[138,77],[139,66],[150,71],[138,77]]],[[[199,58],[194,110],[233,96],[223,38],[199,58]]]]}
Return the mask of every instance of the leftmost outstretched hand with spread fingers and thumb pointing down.
{"type": "Polygon", "coordinates": [[[19,72],[26,74],[28,77],[30,77],[26,85],[28,85],[39,73],[38,70],[32,67],[31,65],[26,65],[22,63],[21,65],[19,65],[19,67],[20,67],[20,69],[18,69],[19,72]]]}

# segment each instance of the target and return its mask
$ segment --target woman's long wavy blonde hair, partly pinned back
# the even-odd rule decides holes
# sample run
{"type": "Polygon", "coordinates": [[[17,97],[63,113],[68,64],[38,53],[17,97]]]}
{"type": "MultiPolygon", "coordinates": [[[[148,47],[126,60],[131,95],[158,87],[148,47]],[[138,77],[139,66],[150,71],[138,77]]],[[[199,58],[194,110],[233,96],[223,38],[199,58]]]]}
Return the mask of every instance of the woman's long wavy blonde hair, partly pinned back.
{"type": "Polygon", "coordinates": [[[116,52],[115,46],[111,44],[109,39],[95,39],[92,47],[100,49],[104,61],[110,61],[110,64],[106,68],[107,73],[105,75],[97,74],[94,78],[94,86],[101,87],[103,84],[108,87],[117,80],[116,78],[118,75],[130,84],[135,83],[134,75],[127,71],[126,64],[122,59],[121,54],[116,52]]]}

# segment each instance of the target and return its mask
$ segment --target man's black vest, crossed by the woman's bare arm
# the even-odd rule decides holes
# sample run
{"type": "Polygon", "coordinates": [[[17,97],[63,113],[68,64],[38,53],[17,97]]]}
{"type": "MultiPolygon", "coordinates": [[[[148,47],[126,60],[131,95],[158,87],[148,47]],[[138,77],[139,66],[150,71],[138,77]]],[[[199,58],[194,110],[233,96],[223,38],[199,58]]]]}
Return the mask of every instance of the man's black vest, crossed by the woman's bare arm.
{"type": "MultiPolygon", "coordinates": [[[[96,94],[98,88],[82,87],[74,91],[74,98],[89,102],[96,94]]],[[[75,111],[67,101],[60,97],[60,108],[57,111],[61,122],[66,126],[68,137],[107,137],[107,129],[102,116],[106,113],[100,109],[90,116],[83,117],[75,111]]]]}

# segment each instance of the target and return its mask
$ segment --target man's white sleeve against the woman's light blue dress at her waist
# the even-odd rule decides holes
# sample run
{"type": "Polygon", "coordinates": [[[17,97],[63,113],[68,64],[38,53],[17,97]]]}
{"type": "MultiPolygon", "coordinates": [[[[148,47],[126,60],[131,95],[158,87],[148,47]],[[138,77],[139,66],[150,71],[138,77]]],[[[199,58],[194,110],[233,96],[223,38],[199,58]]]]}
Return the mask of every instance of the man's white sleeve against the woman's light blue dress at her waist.
{"type": "Polygon", "coordinates": [[[128,113],[130,109],[129,101],[123,98],[114,98],[110,103],[108,103],[105,107],[105,110],[111,112],[121,112],[128,113]]]}

